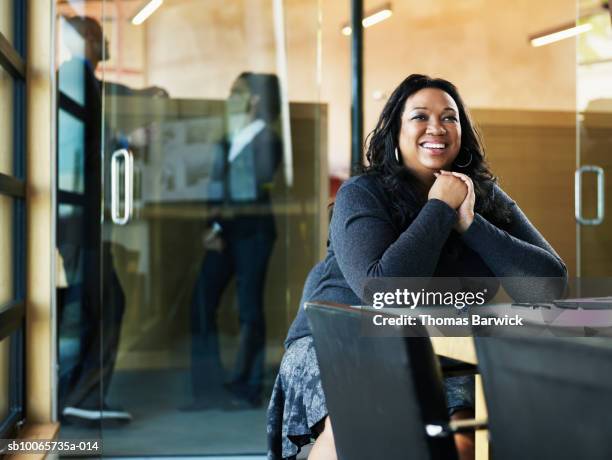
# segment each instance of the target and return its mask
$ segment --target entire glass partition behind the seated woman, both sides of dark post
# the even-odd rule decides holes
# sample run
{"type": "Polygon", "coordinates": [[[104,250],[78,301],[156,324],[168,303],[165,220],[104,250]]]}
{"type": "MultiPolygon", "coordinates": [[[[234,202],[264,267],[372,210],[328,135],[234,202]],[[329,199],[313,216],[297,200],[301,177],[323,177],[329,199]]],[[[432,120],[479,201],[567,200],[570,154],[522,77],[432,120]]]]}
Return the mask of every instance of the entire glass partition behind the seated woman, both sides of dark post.
{"type": "MultiPolygon", "coordinates": [[[[117,456],[263,454],[282,343],[324,254],[328,169],[332,195],[350,175],[350,2],[56,6],[62,436],[97,433],[117,456]]],[[[390,9],[364,33],[364,134],[407,75],[452,81],[570,276],[607,274],[609,10],[390,9]]]]}

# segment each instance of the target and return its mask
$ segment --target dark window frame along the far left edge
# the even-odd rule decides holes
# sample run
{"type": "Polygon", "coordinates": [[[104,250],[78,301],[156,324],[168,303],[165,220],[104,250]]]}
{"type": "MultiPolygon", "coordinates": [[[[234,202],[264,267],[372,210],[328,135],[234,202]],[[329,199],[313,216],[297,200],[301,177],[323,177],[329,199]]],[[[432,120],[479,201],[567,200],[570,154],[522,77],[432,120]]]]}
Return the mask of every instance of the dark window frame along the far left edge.
{"type": "MultiPolygon", "coordinates": [[[[10,337],[9,410],[0,420],[0,438],[14,438],[25,407],[26,293],[26,3],[13,3],[13,44],[0,32],[0,68],[13,80],[13,171],[0,173],[0,194],[13,200],[13,298],[0,304],[0,340],[10,337]]],[[[0,231],[4,229],[0,228],[0,231]]]]}

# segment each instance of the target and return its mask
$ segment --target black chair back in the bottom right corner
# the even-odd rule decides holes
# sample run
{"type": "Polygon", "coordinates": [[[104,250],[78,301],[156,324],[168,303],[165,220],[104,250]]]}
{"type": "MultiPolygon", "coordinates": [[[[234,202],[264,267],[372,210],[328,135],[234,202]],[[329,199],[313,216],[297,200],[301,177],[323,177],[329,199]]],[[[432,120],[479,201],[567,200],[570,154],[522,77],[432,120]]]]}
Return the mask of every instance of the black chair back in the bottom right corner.
{"type": "Polygon", "coordinates": [[[492,458],[612,458],[612,340],[476,337],[475,342],[492,458]]]}

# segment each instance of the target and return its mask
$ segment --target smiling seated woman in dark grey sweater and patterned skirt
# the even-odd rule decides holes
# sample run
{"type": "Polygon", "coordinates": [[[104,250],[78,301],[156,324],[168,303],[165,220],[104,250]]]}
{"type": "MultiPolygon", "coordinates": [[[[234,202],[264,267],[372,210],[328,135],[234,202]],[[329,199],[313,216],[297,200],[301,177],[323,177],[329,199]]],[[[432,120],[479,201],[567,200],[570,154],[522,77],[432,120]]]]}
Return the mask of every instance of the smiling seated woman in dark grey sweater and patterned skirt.
{"type": "MultiPolygon", "coordinates": [[[[362,304],[368,277],[565,277],[554,249],[495,184],[455,86],[410,75],[370,134],[369,166],[338,191],[328,253],[308,276],[304,301],[362,304]],[[364,239],[364,235],[366,238],[364,239]]],[[[268,409],[269,458],[335,459],[312,337],[303,308],[268,409]]],[[[473,416],[465,378],[447,379],[454,419],[473,416]]],[[[455,437],[462,458],[473,438],[455,437]]]]}

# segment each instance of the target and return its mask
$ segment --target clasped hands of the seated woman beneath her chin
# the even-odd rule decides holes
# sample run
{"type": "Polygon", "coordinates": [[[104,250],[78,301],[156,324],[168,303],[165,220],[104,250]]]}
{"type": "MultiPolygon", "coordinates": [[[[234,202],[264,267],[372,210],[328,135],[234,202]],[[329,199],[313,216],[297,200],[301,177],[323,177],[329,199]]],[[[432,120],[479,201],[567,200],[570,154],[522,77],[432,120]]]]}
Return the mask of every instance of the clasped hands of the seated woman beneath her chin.
{"type": "Polygon", "coordinates": [[[429,189],[428,199],[444,201],[457,211],[455,230],[464,233],[474,221],[476,195],[474,183],[467,175],[441,170],[434,173],[436,180],[429,189]]]}

